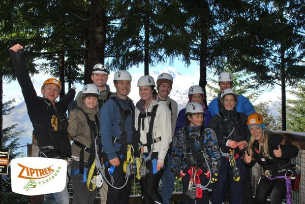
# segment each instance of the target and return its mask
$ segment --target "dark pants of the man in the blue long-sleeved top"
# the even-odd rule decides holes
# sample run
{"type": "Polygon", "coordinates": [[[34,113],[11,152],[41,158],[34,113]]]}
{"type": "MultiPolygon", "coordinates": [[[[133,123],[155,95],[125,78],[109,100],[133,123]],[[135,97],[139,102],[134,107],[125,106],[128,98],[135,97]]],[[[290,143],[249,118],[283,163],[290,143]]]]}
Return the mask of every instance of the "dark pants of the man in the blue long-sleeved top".
{"type": "MultiPolygon", "coordinates": [[[[121,187],[126,182],[126,174],[123,172],[123,161],[119,158],[120,164],[115,167],[112,175],[109,174],[107,168],[105,176],[107,180],[115,187],[121,187]]],[[[123,204],[128,203],[131,193],[131,177],[129,177],[126,186],[122,189],[115,189],[108,185],[107,204],[123,204]]]]}

